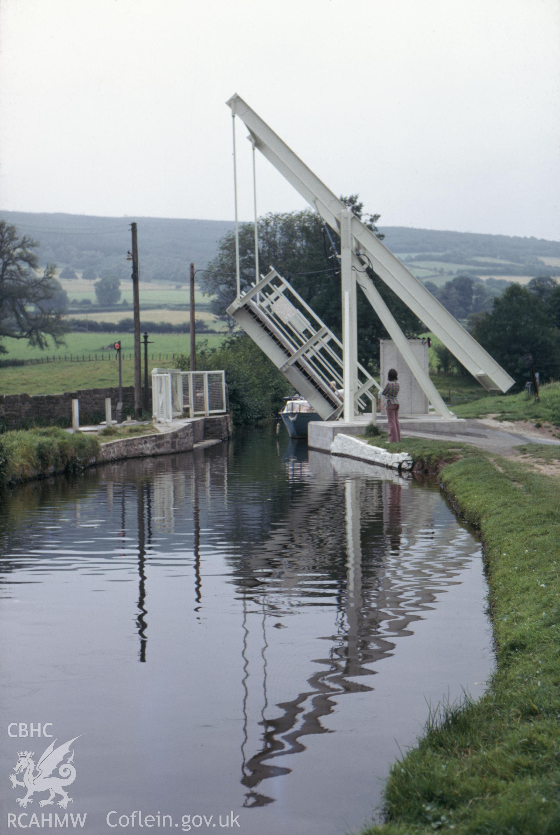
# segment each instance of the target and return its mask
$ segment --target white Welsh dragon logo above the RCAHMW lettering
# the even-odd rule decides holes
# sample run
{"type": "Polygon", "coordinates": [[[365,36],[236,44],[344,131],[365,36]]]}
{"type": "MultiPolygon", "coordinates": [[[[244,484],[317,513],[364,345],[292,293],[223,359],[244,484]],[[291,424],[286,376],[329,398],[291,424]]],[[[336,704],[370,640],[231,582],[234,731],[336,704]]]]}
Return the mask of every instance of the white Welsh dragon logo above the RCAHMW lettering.
{"type": "Polygon", "coordinates": [[[37,771],[33,762],[33,751],[18,751],[18,762],[13,767],[15,773],[10,774],[9,779],[13,788],[23,786],[28,790],[25,797],[17,798],[20,806],[27,807],[28,803],[33,803],[32,795],[35,792],[49,792],[46,800],[39,801],[39,806],[52,806],[58,794],[61,795],[58,806],[62,806],[63,809],[68,806],[73,798],[68,797],[68,792],[64,787],[69,786],[76,779],[76,768],[72,764],[74,752],[72,751],[72,756],[68,760],[64,760],[64,757],[70,753],[70,746],[77,739],[79,736],[74,736],[69,742],[55,748],[57,736],[57,739],[53,740],[41,755],[37,763],[37,771]],[[55,769],[58,769],[58,774],[53,774],[55,769]],[[23,782],[16,777],[19,773],[23,776],[23,782]]]}

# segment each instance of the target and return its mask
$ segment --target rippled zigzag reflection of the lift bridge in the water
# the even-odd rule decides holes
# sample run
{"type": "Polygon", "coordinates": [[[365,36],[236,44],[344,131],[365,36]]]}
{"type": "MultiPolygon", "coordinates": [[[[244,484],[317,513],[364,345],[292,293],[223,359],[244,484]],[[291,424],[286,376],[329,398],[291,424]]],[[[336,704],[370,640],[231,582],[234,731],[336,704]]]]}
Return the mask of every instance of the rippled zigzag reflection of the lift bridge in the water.
{"type": "MultiPolygon", "coordinates": [[[[360,476],[356,473],[359,463],[345,459],[330,462],[328,466],[320,464],[320,473],[310,467],[309,486],[292,504],[285,529],[255,543],[255,556],[245,556],[243,567],[235,572],[244,600],[241,782],[249,789],[246,806],[273,802],[256,789],[269,777],[291,771],[280,767],[278,757],[304,751],[305,736],[328,732],[322,719],[334,711],[336,697],[371,690],[370,684],[357,679],[375,674],[371,665],[393,654],[396,637],[412,634],[412,625],[421,620],[422,611],[433,606],[436,590],[452,584],[464,565],[460,545],[459,554],[457,544],[453,546],[452,560],[448,560],[451,543],[440,542],[436,553],[430,549],[425,554],[421,549],[421,537],[434,524],[432,514],[441,501],[438,493],[433,494],[426,518],[426,504],[415,506],[416,491],[394,473],[375,481],[369,465],[367,475],[360,476]],[[423,532],[417,539],[409,539],[405,554],[399,550],[402,519],[406,519],[409,537],[411,531],[423,532]],[[380,559],[363,561],[362,543],[366,540],[380,559]],[[315,659],[321,669],[306,680],[305,689],[294,698],[275,701],[267,685],[267,650],[272,643],[267,619],[270,623],[270,617],[281,616],[282,599],[290,600],[295,586],[305,584],[307,574],[316,576],[319,560],[338,589],[336,633],[329,637],[324,657],[315,659]],[[255,619],[248,619],[248,607],[253,614],[262,612],[257,619],[260,629],[255,629],[255,619]],[[275,710],[273,717],[271,710],[275,710]],[[248,756],[251,750],[254,753],[248,756]]],[[[456,531],[454,525],[452,530],[456,531]]],[[[317,596],[320,602],[320,593],[317,596]]],[[[288,605],[286,602],[286,608],[288,605]]]]}

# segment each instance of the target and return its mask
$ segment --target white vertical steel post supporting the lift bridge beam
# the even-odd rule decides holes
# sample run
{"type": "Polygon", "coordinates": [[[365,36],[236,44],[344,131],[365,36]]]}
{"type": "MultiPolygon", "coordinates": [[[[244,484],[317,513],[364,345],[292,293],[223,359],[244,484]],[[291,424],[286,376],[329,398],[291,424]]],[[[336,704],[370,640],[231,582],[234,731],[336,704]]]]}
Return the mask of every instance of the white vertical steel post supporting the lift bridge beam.
{"type": "Polygon", "coordinates": [[[356,332],[356,278],[352,272],[352,213],[341,213],[342,364],[344,367],[344,422],[355,417],[358,335],[356,332]]]}

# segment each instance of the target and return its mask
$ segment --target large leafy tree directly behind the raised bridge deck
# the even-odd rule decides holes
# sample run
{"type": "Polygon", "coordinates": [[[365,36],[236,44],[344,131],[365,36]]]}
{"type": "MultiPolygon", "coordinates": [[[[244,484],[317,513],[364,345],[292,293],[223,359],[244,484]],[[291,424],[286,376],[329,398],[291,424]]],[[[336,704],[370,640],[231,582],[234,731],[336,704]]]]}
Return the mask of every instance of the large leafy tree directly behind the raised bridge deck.
{"type": "MultiPolygon", "coordinates": [[[[378,237],[376,222],[379,215],[364,213],[357,195],[341,200],[354,214],[366,223],[378,237]]],[[[260,271],[275,269],[294,286],[307,304],[325,324],[341,337],[341,274],[339,236],[327,230],[320,216],[307,209],[285,214],[269,214],[261,217],[259,226],[260,271]],[[332,244],[331,244],[332,241],[332,244]]],[[[204,294],[213,296],[212,309],[219,316],[235,299],[235,236],[228,232],[219,241],[218,256],[201,274],[204,294]]],[[[421,333],[421,321],[391,291],[381,279],[371,272],[381,296],[391,309],[407,337],[421,333]]],[[[240,226],[240,283],[246,291],[255,281],[255,242],[253,226],[240,226]]],[[[366,367],[375,365],[379,357],[379,340],[388,335],[381,325],[369,301],[358,289],[358,356],[366,367]]]]}

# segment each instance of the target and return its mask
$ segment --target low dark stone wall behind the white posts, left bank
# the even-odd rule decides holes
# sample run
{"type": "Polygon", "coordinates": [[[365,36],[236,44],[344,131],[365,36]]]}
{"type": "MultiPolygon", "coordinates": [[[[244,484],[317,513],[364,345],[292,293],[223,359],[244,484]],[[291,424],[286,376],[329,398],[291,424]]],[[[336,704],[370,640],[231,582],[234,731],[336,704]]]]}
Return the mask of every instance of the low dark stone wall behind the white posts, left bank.
{"type": "MultiPolygon", "coordinates": [[[[70,426],[72,401],[79,401],[80,423],[89,423],[91,417],[105,417],[105,397],[111,398],[113,412],[119,401],[119,387],[83,388],[78,392],[63,394],[4,394],[0,395],[0,423],[7,429],[21,429],[36,423],[38,426],[70,426]]],[[[123,387],[124,409],[134,412],[134,386],[123,387]]],[[[152,390],[149,389],[151,411],[152,390]]]]}

